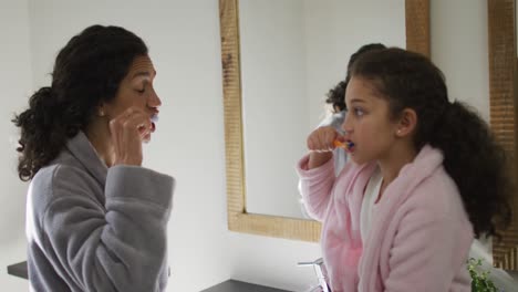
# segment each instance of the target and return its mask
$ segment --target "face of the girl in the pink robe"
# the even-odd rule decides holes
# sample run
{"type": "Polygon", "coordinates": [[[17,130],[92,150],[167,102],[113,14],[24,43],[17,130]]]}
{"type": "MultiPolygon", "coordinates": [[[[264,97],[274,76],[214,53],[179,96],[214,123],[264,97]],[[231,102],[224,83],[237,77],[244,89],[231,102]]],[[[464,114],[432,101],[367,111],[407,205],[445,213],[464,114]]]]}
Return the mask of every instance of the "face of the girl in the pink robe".
{"type": "Polygon", "coordinates": [[[390,119],[388,102],[376,93],[371,81],[353,76],[345,91],[345,104],[342,129],[354,143],[349,157],[356,164],[387,157],[397,132],[397,122],[390,119]]]}

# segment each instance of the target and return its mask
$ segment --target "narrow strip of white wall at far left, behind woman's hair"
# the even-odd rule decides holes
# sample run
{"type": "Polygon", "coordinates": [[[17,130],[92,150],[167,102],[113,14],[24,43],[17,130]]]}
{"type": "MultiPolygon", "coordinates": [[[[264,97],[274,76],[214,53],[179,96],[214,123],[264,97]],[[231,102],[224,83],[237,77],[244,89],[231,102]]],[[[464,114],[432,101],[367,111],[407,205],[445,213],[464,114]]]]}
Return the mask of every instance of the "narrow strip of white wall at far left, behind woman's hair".
{"type": "Polygon", "coordinates": [[[28,1],[0,0],[0,286],[27,291],[28,282],[7,274],[7,265],[25,260],[25,190],[17,173],[18,135],[10,122],[31,90],[28,1]]]}

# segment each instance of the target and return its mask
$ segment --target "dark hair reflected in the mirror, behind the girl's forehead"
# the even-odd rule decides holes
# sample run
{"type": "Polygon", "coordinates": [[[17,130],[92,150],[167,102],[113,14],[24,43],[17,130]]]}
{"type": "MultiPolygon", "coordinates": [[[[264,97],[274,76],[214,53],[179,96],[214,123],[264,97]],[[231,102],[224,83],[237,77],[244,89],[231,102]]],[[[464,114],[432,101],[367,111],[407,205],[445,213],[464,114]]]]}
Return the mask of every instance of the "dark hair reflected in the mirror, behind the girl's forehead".
{"type": "Polygon", "coordinates": [[[358,51],[351,55],[348,63],[348,74],[345,80],[339,82],[333,88],[331,88],[328,94],[325,95],[328,98],[325,100],[327,104],[331,104],[333,106],[334,112],[341,112],[345,109],[345,88],[348,87],[350,76],[351,66],[356,61],[356,59],[365,52],[386,49],[386,46],[382,43],[369,43],[362,45],[358,51]]]}

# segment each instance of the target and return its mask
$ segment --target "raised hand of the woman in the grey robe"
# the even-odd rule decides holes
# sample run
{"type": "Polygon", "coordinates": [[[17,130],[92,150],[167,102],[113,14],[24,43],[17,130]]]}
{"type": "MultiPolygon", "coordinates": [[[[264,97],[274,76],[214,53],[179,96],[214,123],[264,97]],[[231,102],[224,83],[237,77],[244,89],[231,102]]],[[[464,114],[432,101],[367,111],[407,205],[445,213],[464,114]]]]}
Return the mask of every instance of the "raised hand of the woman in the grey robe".
{"type": "Polygon", "coordinates": [[[114,147],[113,165],[142,165],[142,143],[152,133],[152,121],[143,109],[132,106],[110,121],[114,147]]]}

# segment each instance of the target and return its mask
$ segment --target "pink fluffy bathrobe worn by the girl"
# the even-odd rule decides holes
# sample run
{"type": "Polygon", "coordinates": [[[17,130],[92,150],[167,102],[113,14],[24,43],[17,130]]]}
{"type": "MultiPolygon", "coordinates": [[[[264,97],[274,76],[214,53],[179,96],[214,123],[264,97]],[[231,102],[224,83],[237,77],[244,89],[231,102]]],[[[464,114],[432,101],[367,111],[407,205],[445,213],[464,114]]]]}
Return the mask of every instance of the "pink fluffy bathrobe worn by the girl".
{"type": "Polygon", "coordinates": [[[335,178],[332,159],[299,165],[307,209],[323,222],[321,246],[333,292],[470,291],[466,270],[473,227],[439,150],[425,146],[373,208],[365,242],[360,210],[375,163],[348,163],[335,178]]]}

